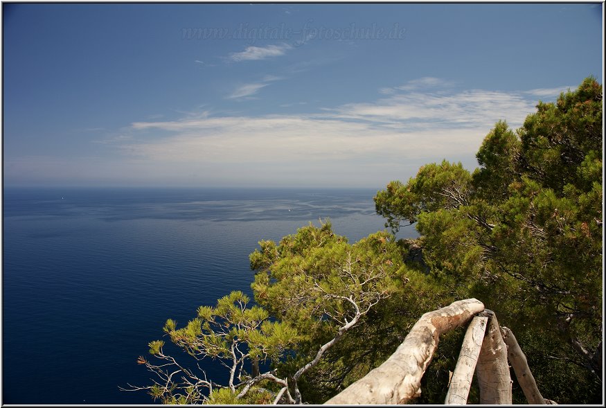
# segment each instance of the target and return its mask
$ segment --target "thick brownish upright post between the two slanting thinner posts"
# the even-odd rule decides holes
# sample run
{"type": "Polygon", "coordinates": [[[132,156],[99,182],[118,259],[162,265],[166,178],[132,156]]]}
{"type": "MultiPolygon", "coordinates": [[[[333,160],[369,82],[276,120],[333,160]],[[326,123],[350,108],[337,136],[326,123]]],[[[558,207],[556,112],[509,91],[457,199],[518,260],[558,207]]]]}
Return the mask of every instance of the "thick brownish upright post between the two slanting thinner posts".
{"type": "Polygon", "coordinates": [[[480,404],[511,404],[511,376],[507,346],[503,342],[497,317],[486,309],[488,326],[480,350],[476,375],[480,387],[480,404]]]}

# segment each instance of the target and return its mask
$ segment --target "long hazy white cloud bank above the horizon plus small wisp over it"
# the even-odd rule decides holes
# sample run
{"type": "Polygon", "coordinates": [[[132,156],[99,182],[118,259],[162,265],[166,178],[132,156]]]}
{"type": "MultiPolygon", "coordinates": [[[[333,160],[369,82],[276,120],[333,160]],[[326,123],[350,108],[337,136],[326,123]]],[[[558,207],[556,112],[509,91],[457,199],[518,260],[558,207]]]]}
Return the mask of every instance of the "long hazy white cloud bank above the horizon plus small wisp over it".
{"type": "MultiPolygon", "coordinates": [[[[132,139],[118,146],[127,157],[175,175],[232,177],[241,172],[240,179],[249,177],[251,182],[254,177],[305,175],[311,184],[328,185],[348,174],[355,175],[349,177],[352,183],[372,185],[400,174],[413,175],[422,163],[444,158],[474,166],[474,153],[495,122],[504,119],[515,128],[534,111],[531,92],[536,90],[420,88],[439,88],[443,83],[420,81],[414,90],[393,87],[392,94],[373,103],[310,114],[136,122],[130,125],[132,139]]],[[[249,97],[265,85],[244,85],[233,97],[249,97]]]]}

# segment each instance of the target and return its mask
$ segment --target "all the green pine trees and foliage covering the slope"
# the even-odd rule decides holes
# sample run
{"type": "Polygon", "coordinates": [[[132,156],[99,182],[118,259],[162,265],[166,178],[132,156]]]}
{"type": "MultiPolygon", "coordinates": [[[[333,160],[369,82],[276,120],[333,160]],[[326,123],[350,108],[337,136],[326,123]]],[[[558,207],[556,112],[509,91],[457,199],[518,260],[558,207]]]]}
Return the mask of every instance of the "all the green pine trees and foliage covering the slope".
{"type": "MultiPolygon", "coordinates": [[[[588,78],[519,130],[497,123],[474,172],[443,161],[389,183],[377,213],[393,232],[416,224],[418,240],[377,232],[350,244],[327,222],[261,241],[255,306],[233,292],[164,328],[189,355],[220,359],[228,383],[156,341],[158,363],[139,363],[157,383],[140,389],[162,402],[321,403],[386,360],[423,313],[475,297],[513,330],[545,398],[601,403],[602,100],[588,78]]],[[[443,403],[463,335],[440,340],[417,403],[443,403]]],[[[526,402],[515,383],[514,402],[526,402]]]]}

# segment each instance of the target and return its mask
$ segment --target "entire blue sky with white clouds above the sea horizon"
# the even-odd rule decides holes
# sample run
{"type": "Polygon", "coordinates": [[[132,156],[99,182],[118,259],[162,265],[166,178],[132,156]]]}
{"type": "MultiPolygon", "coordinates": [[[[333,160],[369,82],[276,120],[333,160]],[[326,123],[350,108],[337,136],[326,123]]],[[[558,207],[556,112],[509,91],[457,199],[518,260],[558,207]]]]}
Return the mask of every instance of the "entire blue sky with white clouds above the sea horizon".
{"type": "Polygon", "coordinates": [[[5,186],[382,188],[603,82],[602,4],[3,3],[5,186]]]}

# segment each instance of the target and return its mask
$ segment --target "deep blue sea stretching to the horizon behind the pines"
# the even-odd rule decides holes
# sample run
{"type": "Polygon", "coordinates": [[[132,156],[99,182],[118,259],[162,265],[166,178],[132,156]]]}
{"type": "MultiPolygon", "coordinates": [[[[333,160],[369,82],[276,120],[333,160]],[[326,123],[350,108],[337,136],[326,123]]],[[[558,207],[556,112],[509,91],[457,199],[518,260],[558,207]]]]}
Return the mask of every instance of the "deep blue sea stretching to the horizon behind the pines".
{"type": "Polygon", "coordinates": [[[150,384],[136,358],[166,319],[183,324],[231,290],[251,294],[259,240],[319,218],[350,242],[384,229],[376,193],[5,188],[2,403],[153,403],[118,385],[150,384]]]}

